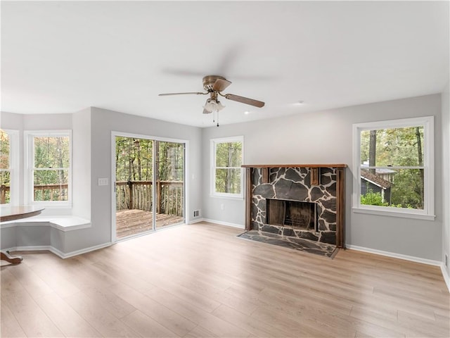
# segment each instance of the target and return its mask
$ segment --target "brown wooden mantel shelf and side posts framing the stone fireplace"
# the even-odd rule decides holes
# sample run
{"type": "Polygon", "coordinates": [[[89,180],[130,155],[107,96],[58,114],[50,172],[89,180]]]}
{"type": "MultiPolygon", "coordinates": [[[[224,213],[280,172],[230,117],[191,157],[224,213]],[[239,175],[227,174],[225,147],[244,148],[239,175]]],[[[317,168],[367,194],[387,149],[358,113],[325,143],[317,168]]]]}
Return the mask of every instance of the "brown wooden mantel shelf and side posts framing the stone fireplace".
{"type": "Polygon", "coordinates": [[[320,168],[336,169],[336,246],[345,248],[345,168],[343,163],[321,163],[321,164],[244,164],[245,168],[245,229],[251,230],[252,209],[252,169],[262,170],[262,182],[269,183],[269,172],[271,168],[310,168],[311,185],[320,184],[320,168]]]}

